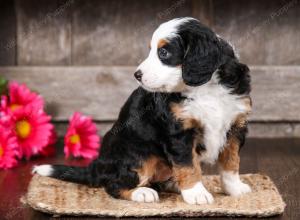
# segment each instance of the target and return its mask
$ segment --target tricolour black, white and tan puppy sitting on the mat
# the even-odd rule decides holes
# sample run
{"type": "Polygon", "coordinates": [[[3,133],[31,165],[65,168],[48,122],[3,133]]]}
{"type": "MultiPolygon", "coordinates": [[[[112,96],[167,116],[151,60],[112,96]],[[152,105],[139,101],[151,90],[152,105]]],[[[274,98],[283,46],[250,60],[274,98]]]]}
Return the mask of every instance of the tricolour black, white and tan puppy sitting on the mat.
{"type": "Polygon", "coordinates": [[[115,198],[157,202],[155,189],[209,204],[201,162],[217,163],[231,196],[250,192],[239,178],[239,149],[251,110],[249,69],[232,46],[194,18],[161,24],[134,73],[140,87],[88,167],[41,165],[33,173],[92,187],[115,198]]]}

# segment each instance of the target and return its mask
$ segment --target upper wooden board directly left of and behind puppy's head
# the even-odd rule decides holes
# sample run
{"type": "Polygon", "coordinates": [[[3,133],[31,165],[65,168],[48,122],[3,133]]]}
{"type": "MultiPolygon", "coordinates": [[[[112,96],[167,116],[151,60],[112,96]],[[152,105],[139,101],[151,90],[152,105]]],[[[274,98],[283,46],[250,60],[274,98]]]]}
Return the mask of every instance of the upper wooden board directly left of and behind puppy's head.
{"type": "Polygon", "coordinates": [[[192,1],[80,1],[73,11],[74,65],[137,65],[148,52],[153,30],[187,16],[192,1]],[[180,10],[177,10],[180,9],[180,10]]]}

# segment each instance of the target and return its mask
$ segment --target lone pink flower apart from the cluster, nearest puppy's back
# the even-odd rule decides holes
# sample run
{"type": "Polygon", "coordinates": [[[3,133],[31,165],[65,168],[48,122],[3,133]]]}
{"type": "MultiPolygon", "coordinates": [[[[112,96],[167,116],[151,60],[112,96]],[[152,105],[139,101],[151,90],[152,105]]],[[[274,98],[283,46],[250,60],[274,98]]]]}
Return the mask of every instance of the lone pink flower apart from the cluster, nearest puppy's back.
{"type": "Polygon", "coordinates": [[[98,156],[100,138],[91,117],[75,112],[65,135],[64,152],[66,157],[83,157],[94,159],[98,156]]]}

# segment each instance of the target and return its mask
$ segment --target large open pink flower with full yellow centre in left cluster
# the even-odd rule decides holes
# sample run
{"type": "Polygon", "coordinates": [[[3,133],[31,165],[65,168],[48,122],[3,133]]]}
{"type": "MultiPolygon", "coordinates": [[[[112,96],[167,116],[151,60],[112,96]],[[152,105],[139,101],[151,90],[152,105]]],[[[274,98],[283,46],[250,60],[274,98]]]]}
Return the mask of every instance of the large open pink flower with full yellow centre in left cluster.
{"type": "Polygon", "coordinates": [[[53,143],[53,125],[51,117],[43,110],[28,105],[15,109],[9,115],[8,124],[17,137],[21,155],[29,159],[53,143]]]}

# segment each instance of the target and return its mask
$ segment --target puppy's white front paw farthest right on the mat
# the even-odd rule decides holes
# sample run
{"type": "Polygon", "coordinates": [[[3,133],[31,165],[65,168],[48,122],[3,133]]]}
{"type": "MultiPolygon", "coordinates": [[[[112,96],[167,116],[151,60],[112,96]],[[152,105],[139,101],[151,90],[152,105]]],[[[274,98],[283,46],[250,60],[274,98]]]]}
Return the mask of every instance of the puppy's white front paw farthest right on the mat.
{"type": "Polygon", "coordinates": [[[222,173],[222,188],[226,194],[234,197],[251,192],[250,186],[243,183],[237,173],[232,172],[222,173]]]}

